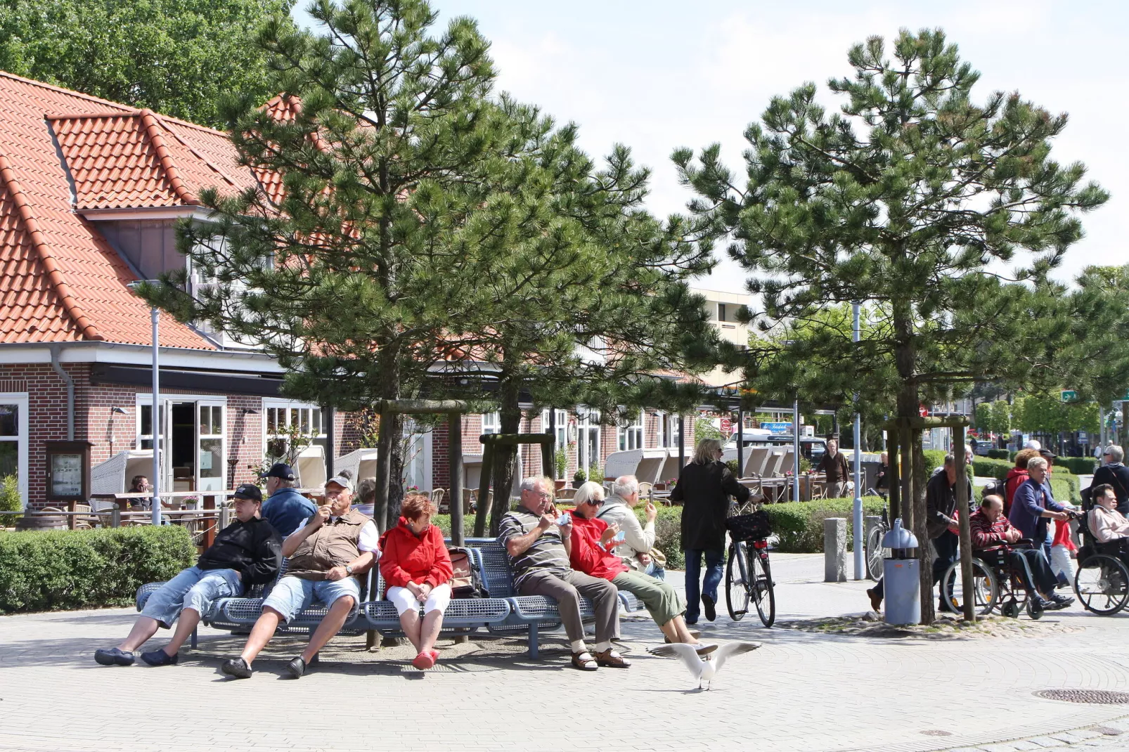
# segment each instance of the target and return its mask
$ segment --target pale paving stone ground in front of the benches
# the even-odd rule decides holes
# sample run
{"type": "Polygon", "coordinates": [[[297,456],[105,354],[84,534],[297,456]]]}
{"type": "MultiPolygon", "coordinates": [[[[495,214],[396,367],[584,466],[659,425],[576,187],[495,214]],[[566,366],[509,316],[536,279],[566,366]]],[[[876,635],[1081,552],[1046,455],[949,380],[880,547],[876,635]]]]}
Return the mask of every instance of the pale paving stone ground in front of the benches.
{"type": "MultiPolygon", "coordinates": [[[[819,582],[819,556],[773,554],[773,566],[781,620],[866,607],[868,584],[819,582]]],[[[1033,696],[1129,691],[1127,615],[1073,607],[1043,618],[1068,633],[922,640],[769,630],[730,622],[724,600],[719,611],[700,624],[706,638],[763,647],[701,692],[679,662],[646,653],[662,641],[646,619],[623,621],[627,671],[569,668],[560,632],[540,661],[511,639],[440,645],[426,674],[408,648],[341,638],[292,681],[282,666],[301,639],[289,637],[233,681],[218,668],[242,637],[203,629],[177,666],[103,667],[95,648],[129,630],[132,610],[0,617],[0,750],[1129,750],[1129,706],[1033,696]]]]}

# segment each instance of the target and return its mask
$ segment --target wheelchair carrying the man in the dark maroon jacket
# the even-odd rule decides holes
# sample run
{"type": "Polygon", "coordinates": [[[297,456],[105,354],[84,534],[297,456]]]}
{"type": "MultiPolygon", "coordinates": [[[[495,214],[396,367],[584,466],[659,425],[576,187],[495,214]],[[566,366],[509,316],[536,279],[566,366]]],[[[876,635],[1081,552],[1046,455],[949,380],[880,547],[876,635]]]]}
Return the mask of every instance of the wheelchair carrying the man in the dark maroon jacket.
{"type": "MultiPolygon", "coordinates": [[[[972,591],[979,615],[987,617],[998,609],[1000,614],[1010,619],[1017,618],[1024,610],[1032,619],[1042,618],[1042,602],[1040,598],[1031,597],[1031,588],[1025,585],[1033,582],[1031,566],[1025,558],[1019,557],[1018,560],[1024,569],[1021,574],[1012,566],[1009,556],[1009,550],[1031,548],[1033,542],[1024,539],[1007,548],[977,551],[977,556],[972,558],[972,591]]],[[[940,596],[957,613],[964,611],[963,574],[961,560],[957,559],[940,578],[940,596]]]]}

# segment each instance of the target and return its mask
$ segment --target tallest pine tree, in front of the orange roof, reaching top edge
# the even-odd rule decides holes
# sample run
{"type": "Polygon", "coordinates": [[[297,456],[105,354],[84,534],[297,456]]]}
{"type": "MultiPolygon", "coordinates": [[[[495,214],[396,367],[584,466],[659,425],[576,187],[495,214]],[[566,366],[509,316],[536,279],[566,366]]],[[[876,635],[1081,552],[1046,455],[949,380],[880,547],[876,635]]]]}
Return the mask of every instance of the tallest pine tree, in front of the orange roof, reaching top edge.
{"type": "MultiPolygon", "coordinates": [[[[310,16],[321,35],[281,21],[260,35],[281,97],[224,107],[240,159],[280,184],[202,192],[215,221],[184,226],[180,248],[217,283],[172,274],[148,295],[277,357],[289,394],[357,410],[418,394],[466,317],[469,260],[453,250],[492,200],[509,141],[472,20],[432,33],[423,0],[321,0],[310,16]]],[[[378,447],[382,526],[393,423],[378,447]]]]}

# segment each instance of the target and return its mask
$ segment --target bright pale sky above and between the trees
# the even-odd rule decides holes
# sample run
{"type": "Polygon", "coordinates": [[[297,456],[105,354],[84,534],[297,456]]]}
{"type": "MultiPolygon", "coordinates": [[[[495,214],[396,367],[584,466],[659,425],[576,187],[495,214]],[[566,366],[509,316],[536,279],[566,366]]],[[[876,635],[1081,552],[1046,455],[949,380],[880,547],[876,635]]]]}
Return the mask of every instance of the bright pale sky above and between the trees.
{"type": "MultiPolygon", "coordinates": [[[[964,2],[754,0],[432,0],[440,24],[478,20],[491,41],[498,89],[580,126],[593,156],[631,147],[653,170],[648,208],[683,211],[690,193],[671,163],[677,147],[718,142],[741,172],[742,137],[769,100],[815,81],[829,110],[829,78],[849,76],[848,49],[900,28],[940,27],[981,72],[973,98],[1018,91],[1069,114],[1052,146],[1060,163],[1082,161],[1111,193],[1083,218],[1086,237],[1058,277],[1089,264],[1129,263],[1119,230],[1129,196],[1129,3],[979,0],[964,2]],[[1112,129],[1112,130],[1111,130],[1112,129]]],[[[299,21],[308,17],[296,11],[299,21]]],[[[724,256],[724,251],[721,254],[724,256]]],[[[741,292],[746,273],[723,259],[700,287],[741,292]]]]}

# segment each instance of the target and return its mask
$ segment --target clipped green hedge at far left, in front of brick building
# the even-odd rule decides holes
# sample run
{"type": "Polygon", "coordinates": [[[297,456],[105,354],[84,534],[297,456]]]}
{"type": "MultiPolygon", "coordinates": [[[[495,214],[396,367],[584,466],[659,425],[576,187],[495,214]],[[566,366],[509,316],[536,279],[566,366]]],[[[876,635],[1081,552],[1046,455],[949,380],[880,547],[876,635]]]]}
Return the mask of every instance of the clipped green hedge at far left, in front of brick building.
{"type": "Polygon", "coordinates": [[[180,525],[0,533],[0,613],[129,605],[195,556],[180,525]]]}

